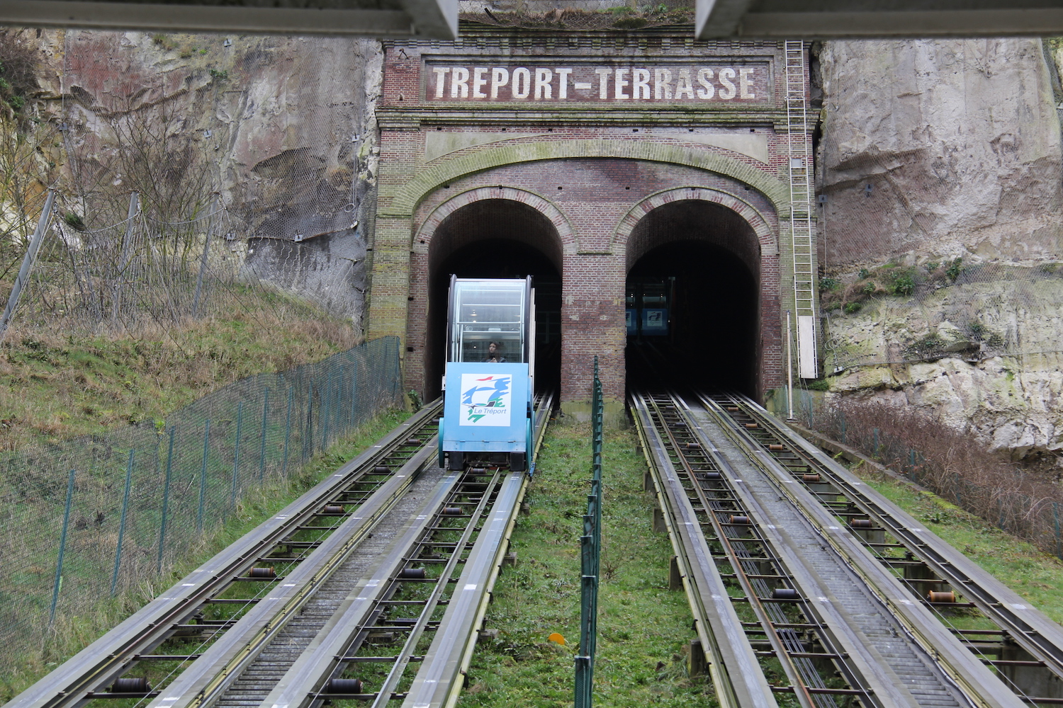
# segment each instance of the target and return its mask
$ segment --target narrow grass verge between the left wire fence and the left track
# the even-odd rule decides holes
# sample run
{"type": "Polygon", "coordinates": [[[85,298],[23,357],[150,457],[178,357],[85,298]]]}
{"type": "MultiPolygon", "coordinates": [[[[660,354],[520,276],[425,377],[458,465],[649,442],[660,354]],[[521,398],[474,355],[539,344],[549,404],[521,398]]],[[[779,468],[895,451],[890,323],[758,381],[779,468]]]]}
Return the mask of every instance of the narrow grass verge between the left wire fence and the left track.
{"type": "MultiPolygon", "coordinates": [[[[101,601],[95,611],[85,612],[78,617],[57,616],[49,636],[43,638],[39,651],[17,657],[5,663],[3,672],[0,672],[0,703],[10,701],[29,688],[61,662],[80,652],[147,604],[149,600],[234,543],[265,519],[276,514],[327,474],[334,472],[337,467],[369,448],[407,416],[408,413],[404,411],[382,413],[334,444],[325,452],[313,457],[287,481],[276,481],[246,495],[246,498],[237,504],[236,513],[231,515],[214,533],[205,536],[197,548],[189,549],[188,554],[168,574],[152,583],[142,584],[136,592],[101,601]]],[[[149,670],[158,672],[163,671],[164,668],[161,666],[149,670]]],[[[149,678],[155,685],[159,676],[152,674],[149,678]]],[[[116,708],[119,707],[116,706],[116,708]]]]}

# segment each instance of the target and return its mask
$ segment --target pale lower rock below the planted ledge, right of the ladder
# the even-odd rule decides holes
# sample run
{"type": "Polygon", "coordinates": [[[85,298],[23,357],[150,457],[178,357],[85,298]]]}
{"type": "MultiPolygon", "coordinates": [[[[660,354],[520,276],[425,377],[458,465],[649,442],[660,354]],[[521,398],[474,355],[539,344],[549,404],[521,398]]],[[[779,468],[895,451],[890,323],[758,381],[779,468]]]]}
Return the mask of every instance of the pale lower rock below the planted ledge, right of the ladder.
{"type": "Polygon", "coordinates": [[[832,377],[836,395],[922,409],[1015,459],[1063,450],[1063,277],[1054,271],[958,283],[922,301],[883,297],[829,323],[828,368],[868,364],[832,377]],[[943,356],[913,356],[931,336],[943,356]]]}

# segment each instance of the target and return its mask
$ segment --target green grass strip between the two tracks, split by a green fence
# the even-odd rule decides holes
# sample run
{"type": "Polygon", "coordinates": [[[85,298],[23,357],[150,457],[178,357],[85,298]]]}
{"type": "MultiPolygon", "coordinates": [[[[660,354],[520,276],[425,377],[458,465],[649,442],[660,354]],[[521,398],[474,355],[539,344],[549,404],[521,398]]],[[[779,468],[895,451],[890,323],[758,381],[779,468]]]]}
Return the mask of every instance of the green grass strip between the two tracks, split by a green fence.
{"type": "MultiPolygon", "coordinates": [[[[459,708],[571,706],[579,642],[579,536],[590,480],[590,427],[546,434],[506,567],[494,586],[485,628],[459,708]],[[547,641],[561,634],[568,644],[547,641]]],[[[645,462],[632,431],[607,432],[603,464],[602,583],[594,704],[715,706],[711,686],[691,679],[690,607],[668,589],[672,547],[653,532],[653,497],[642,491],[645,462]]]]}

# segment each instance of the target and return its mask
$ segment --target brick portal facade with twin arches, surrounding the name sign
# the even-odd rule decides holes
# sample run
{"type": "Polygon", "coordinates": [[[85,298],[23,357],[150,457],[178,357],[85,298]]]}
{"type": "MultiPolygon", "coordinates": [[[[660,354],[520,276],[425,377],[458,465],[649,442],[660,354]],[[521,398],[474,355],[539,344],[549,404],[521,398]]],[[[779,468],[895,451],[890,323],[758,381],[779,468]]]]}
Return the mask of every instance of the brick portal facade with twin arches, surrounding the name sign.
{"type": "Polygon", "coordinates": [[[459,232],[439,227],[488,198],[523,205],[514,217],[526,208],[542,215],[514,218],[512,229],[514,238],[533,242],[560,267],[562,401],[589,398],[595,355],[605,396],[623,398],[626,273],[639,256],[667,240],[646,230],[646,214],[682,200],[727,210],[728,218],[706,224],[703,237],[736,253],[754,272],[761,331],[758,387],[763,392],[779,385],[784,375],[780,311],[792,300],[793,288],[786,260],[784,87],[776,75],[781,48],[773,42],[694,42],[660,30],[553,37],[475,28],[462,32],[463,38],[453,44],[404,40],[387,47],[370,334],[404,339],[407,385],[424,387],[424,358],[434,355],[426,351],[428,308],[445,307],[428,301],[429,275],[461,245],[459,232]],[[500,63],[500,52],[506,62],[552,56],[612,63],[619,57],[632,63],[766,58],[772,100],[759,107],[665,106],[652,113],[628,105],[424,102],[424,62],[450,57],[468,63],[485,55],[495,58],[483,63],[500,63]],[[567,151],[567,145],[580,150],[567,151]],[[756,145],[757,151],[741,145],[756,145]],[[560,154],[564,157],[556,157],[560,154]],[[522,227],[528,221],[536,222],[534,228],[522,227]],[[440,237],[448,243],[436,238],[437,231],[449,235],[440,237]]]}

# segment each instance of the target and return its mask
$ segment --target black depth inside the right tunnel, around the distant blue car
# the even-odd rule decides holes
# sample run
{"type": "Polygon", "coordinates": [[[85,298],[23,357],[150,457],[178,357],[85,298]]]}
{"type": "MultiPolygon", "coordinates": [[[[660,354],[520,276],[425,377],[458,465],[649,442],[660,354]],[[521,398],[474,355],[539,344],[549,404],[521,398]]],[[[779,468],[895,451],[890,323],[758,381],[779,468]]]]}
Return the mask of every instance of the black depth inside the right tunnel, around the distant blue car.
{"type": "Polygon", "coordinates": [[[652,249],[627,274],[628,293],[652,291],[654,283],[670,291],[669,331],[628,335],[629,382],[649,376],[643,355],[654,351],[678,375],[677,385],[755,396],[758,289],[748,266],[705,241],[673,241],[652,249]]]}

